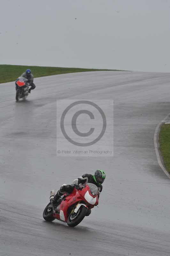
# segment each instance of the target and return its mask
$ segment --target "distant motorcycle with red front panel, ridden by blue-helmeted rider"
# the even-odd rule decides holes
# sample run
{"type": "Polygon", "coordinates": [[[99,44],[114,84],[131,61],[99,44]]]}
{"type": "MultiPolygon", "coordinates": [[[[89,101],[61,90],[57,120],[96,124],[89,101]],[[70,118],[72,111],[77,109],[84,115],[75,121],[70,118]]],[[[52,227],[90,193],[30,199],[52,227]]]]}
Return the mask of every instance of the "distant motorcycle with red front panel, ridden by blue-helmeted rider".
{"type": "Polygon", "coordinates": [[[29,91],[29,83],[28,79],[22,76],[19,76],[19,78],[15,82],[16,85],[16,101],[23,98],[26,99],[28,96],[29,91]]]}

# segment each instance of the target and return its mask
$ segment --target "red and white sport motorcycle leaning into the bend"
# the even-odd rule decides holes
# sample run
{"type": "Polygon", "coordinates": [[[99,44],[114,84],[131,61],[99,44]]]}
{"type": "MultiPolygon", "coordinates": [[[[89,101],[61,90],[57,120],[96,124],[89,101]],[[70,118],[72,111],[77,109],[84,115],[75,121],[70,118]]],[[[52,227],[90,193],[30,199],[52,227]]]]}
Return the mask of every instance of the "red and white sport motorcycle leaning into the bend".
{"type": "Polygon", "coordinates": [[[91,209],[98,204],[99,192],[95,184],[87,183],[85,187],[73,189],[69,195],[64,194],[59,199],[59,205],[50,202],[44,209],[43,218],[46,221],[55,219],[67,222],[70,227],[77,226],[91,209]]]}

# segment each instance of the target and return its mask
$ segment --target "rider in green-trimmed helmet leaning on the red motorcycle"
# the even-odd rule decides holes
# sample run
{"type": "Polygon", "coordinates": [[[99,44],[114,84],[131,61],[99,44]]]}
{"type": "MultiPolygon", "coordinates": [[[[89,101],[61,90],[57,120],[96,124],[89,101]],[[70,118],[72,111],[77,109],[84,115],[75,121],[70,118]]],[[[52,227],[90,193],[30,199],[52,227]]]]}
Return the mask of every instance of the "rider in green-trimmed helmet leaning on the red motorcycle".
{"type": "Polygon", "coordinates": [[[102,192],[103,186],[102,183],[105,180],[105,173],[103,170],[97,170],[94,175],[91,174],[83,174],[81,177],[73,181],[72,185],[63,185],[56,193],[56,195],[53,197],[50,197],[50,200],[53,201],[53,203],[57,203],[58,199],[63,196],[63,194],[71,194],[73,192],[74,188],[79,188],[81,186],[86,185],[87,183],[95,184],[98,189],[99,193],[102,192]]]}

